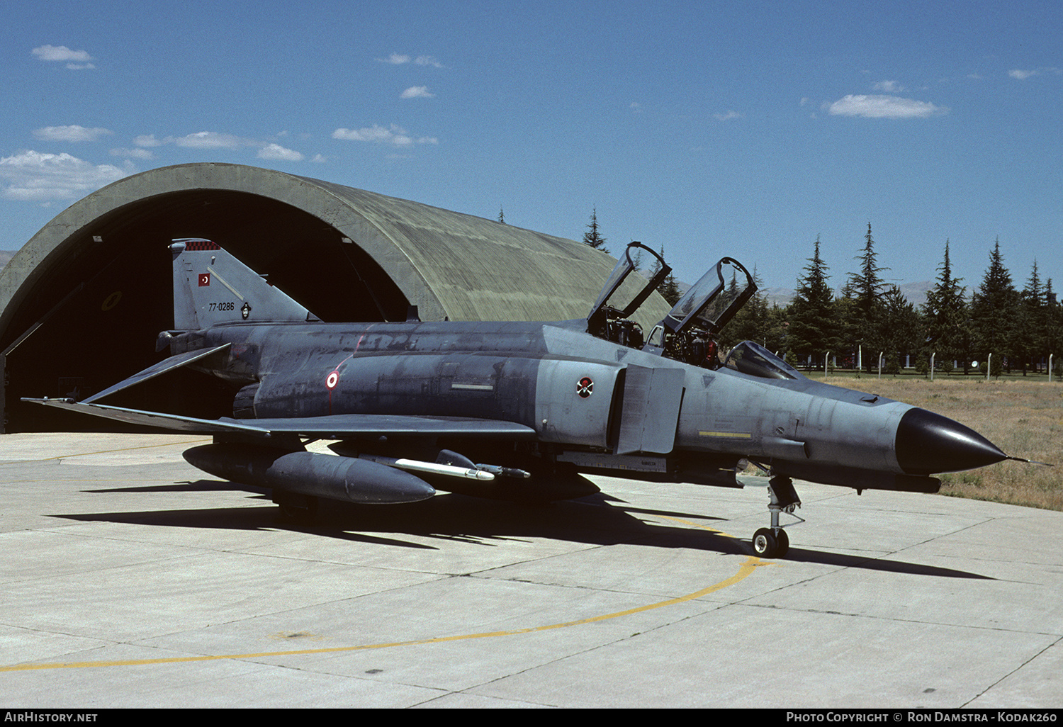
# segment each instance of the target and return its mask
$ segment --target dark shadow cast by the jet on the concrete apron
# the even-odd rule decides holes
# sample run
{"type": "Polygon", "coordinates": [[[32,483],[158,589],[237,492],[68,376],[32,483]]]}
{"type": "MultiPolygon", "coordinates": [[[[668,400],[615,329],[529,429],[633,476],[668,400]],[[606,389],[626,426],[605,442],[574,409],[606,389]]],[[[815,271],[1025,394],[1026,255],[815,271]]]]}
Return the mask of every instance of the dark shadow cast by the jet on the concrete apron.
{"type": "MultiPolygon", "coordinates": [[[[251,498],[266,500],[269,497],[269,491],[263,488],[204,479],[174,485],[87,490],[87,492],[100,494],[114,492],[167,492],[172,494],[219,491],[247,492],[251,498]]],[[[753,548],[746,540],[739,540],[707,528],[647,522],[640,515],[699,521],[723,521],[725,520],[723,518],[632,507],[606,493],[545,504],[484,500],[453,493],[440,493],[431,500],[405,505],[355,505],[327,500],[323,500],[321,504],[322,509],[318,512],[313,524],[286,521],[281,517],[280,509],[272,504],[268,507],[253,508],[141,510],[53,514],[52,517],[83,522],[114,522],[163,527],[286,529],[337,540],[423,550],[445,547],[446,541],[495,547],[506,541],[550,538],[594,545],[626,543],[648,547],[709,551],[728,555],[750,555],[753,553],[753,548]],[[404,540],[401,537],[388,537],[402,535],[432,538],[439,540],[440,543],[439,545],[429,545],[404,540]]],[[[786,560],[908,575],[993,580],[988,576],[954,569],[799,547],[791,547],[786,560]]]]}

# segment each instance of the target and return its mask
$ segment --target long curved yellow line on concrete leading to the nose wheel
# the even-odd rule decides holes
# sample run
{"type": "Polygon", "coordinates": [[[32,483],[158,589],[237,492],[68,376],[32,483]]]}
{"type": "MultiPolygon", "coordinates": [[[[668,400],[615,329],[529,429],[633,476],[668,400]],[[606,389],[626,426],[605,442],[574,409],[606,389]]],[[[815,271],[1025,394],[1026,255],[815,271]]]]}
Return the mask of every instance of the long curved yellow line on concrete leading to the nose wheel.
{"type": "MultiPolygon", "coordinates": [[[[667,515],[665,515],[667,517],[667,515]]],[[[679,518],[668,518],[668,520],[673,520],[680,523],[686,523],[697,528],[704,528],[712,530],[713,532],[720,532],[723,536],[727,536],[726,532],[710,528],[706,525],[697,525],[691,523],[687,520],[680,520],[679,518]]],[[[729,537],[729,536],[727,536],[729,537]]],[[[391,648],[393,646],[420,646],[422,644],[440,644],[448,641],[468,641],[470,639],[489,639],[492,637],[504,637],[504,636],[516,636],[518,633],[534,633],[536,631],[549,631],[555,628],[568,628],[570,626],[580,626],[584,624],[593,624],[602,621],[608,621],[610,619],[619,619],[620,616],[631,615],[635,613],[643,613],[645,611],[652,611],[657,608],[664,608],[665,606],[675,606],[676,604],[682,604],[688,601],[693,601],[695,598],[701,598],[702,596],[708,595],[709,593],[714,593],[715,591],[727,588],[728,586],[733,586],[735,584],[744,580],[753,574],[758,568],[763,565],[775,565],[769,561],[761,560],[756,556],[749,556],[743,562],[738,572],[729,578],[724,578],[723,580],[701,589],[699,591],[694,591],[693,593],[688,593],[686,595],[677,596],[675,598],[669,598],[668,601],[659,601],[655,604],[647,604],[646,606],[638,606],[636,608],[628,608],[623,611],[614,611],[613,613],[605,613],[596,616],[589,616],[587,619],[579,619],[577,621],[566,621],[559,624],[549,624],[546,626],[532,626],[529,628],[514,628],[503,631],[484,631],[480,633],[461,633],[457,636],[449,637],[435,637],[432,639],[416,639],[412,641],[392,641],[381,644],[361,644],[358,646],[334,646],[331,648],[305,648],[290,652],[256,652],[252,654],[221,654],[216,656],[195,656],[195,657],[169,657],[162,659],[123,659],[117,661],[75,661],[75,662],[61,662],[61,663],[48,663],[48,664],[17,664],[14,666],[0,666],[0,672],[30,672],[34,670],[41,669],[85,669],[92,666],[139,666],[145,664],[176,664],[189,661],[218,661],[220,659],[263,659],[266,657],[282,657],[282,656],[303,656],[309,654],[341,654],[343,652],[359,652],[367,650],[371,648],[391,648]]]]}

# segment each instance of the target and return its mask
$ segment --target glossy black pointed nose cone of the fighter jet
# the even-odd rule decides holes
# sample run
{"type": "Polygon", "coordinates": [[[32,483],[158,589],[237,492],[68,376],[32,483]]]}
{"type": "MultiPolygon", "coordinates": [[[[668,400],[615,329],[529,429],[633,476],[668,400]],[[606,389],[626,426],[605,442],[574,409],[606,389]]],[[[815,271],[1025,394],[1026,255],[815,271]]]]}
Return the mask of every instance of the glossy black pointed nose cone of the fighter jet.
{"type": "Polygon", "coordinates": [[[897,425],[897,463],[912,475],[960,472],[1008,458],[974,429],[926,409],[909,409],[897,425]]]}

